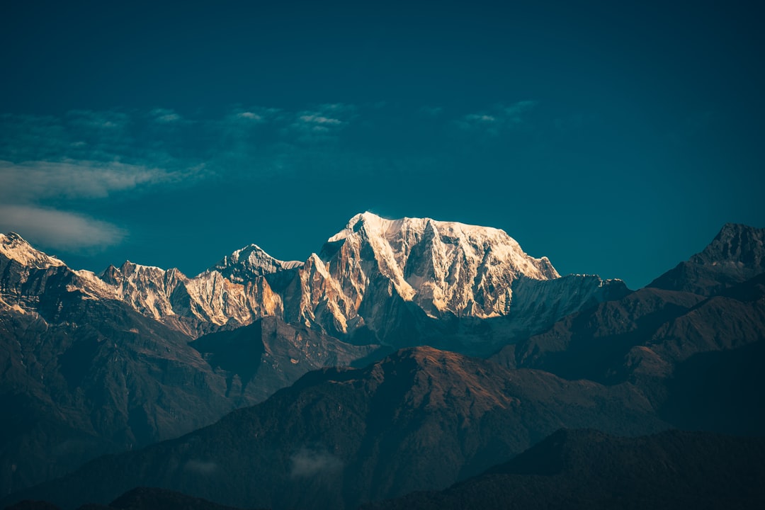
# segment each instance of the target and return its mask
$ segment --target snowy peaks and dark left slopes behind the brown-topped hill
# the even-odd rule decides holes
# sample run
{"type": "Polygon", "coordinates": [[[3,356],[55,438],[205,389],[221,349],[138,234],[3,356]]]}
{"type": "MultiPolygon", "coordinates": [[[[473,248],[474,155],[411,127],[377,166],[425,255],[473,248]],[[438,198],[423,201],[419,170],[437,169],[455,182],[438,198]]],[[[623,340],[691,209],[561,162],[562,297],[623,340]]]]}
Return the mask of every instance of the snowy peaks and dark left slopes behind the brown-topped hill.
{"type": "Polygon", "coordinates": [[[125,261],[75,270],[0,235],[7,367],[0,488],[176,437],[312,369],[431,344],[490,354],[627,289],[560,277],[505,232],[354,216],[307,261],[257,245],[189,278],[125,261]]]}

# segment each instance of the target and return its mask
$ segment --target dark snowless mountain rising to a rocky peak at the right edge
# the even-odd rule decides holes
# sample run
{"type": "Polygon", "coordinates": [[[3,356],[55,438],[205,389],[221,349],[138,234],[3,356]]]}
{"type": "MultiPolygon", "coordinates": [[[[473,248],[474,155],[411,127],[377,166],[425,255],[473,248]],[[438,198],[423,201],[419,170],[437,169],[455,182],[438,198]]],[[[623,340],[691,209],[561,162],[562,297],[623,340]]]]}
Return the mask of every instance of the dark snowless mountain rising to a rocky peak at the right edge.
{"type": "MultiPolygon", "coordinates": [[[[752,250],[736,251],[730,243],[720,247],[730,230],[725,226],[702,252],[704,257],[692,259],[705,260],[710,271],[717,271],[716,281],[727,282],[715,287],[711,297],[646,287],[565,317],[545,333],[504,347],[492,359],[567,379],[609,385],[629,381],[675,426],[757,433],[765,427],[765,378],[757,369],[765,353],[765,273],[761,259],[750,256],[752,250]],[[737,259],[736,274],[757,275],[733,283],[725,261],[715,265],[710,258],[725,253],[737,259]]],[[[705,282],[701,287],[708,290],[705,282]]]]}

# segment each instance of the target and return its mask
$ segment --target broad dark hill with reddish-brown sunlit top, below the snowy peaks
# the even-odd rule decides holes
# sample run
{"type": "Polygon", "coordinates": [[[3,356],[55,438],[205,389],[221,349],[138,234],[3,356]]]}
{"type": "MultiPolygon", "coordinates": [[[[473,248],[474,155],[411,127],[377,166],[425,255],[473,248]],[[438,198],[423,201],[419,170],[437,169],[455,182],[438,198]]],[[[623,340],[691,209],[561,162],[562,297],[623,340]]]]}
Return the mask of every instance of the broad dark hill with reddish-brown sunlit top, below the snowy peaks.
{"type": "Polygon", "coordinates": [[[421,347],[366,369],[311,372],[217,424],[101,458],[18,498],[73,508],[151,482],[233,506],[354,508],[444,488],[562,426],[665,427],[630,385],[566,382],[421,347]]]}

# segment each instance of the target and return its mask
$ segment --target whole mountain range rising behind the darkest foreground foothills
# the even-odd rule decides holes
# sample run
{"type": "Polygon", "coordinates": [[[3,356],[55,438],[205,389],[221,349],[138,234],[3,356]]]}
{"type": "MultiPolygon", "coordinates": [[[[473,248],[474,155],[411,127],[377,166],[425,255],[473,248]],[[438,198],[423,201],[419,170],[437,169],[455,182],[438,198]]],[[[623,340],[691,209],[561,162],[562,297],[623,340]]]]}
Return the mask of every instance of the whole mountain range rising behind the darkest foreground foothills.
{"type": "Polygon", "coordinates": [[[194,278],[0,236],[2,490],[356,508],[561,427],[761,434],[763,233],[728,224],[638,291],[501,230],[371,213],[307,261],[249,245],[194,278]]]}

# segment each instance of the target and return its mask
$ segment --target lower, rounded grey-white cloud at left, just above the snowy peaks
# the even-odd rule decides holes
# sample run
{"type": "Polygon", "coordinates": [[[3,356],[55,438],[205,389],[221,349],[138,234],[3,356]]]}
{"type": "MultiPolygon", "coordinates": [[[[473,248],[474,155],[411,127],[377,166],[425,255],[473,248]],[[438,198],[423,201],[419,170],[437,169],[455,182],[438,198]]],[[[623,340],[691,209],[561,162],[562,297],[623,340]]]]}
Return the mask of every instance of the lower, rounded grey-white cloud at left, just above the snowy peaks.
{"type": "Polygon", "coordinates": [[[27,205],[0,205],[0,231],[15,231],[34,244],[68,251],[99,251],[127,232],[78,213],[27,205]]]}

